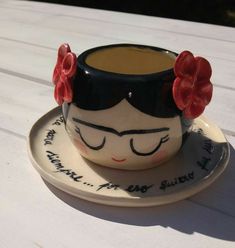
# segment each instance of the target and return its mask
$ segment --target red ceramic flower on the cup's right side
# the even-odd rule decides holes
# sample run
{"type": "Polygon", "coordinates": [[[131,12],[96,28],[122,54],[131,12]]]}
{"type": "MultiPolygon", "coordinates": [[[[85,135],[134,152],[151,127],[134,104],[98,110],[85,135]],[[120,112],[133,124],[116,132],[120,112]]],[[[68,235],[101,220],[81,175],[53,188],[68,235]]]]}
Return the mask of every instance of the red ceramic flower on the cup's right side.
{"type": "Polygon", "coordinates": [[[206,59],[184,51],[176,59],[174,72],[174,101],[185,118],[194,119],[203,113],[212,97],[211,66],[206,59]]]}

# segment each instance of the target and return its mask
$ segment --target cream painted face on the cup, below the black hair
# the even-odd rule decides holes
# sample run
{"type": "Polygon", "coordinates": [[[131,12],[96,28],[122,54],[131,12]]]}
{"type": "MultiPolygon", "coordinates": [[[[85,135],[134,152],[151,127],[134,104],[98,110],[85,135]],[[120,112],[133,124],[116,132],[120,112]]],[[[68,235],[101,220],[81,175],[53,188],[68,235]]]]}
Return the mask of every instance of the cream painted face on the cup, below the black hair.
{"type": "Polygon", "coordinates": [[[82,156],[118,169],[159,165],[172,157],[182,143],[179,117],[150,116],[126,100],[98,111],[71,104],[66,129],[82,156]]]}

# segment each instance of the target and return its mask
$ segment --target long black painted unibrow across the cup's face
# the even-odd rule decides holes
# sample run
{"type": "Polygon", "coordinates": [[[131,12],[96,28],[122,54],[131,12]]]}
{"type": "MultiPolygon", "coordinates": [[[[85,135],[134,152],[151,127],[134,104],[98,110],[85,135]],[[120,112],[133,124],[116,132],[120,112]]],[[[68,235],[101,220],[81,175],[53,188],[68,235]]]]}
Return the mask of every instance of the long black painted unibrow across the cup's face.
{"type": "Polygon", "coordinates": [[[73,121],[75,121],[77,123],[80,123],[82,125],[88,126],[88,127],[99,129],[101,131],[116,134],[117,136],[123,136],[123,135],[127,135],[127,134],[158,133],[158,132],[164,132],[164,131],[169,131],[170,130],[169,127],[162,127],[162,128],[153,128],[153,129],[133,129],[133,130],[125,130],[125,131],[122,131],[122,132],[118,132],[117,130],[115,130],[113,128],[105,127],[105,126],[101,126],[101,125],[96,125],[96,124],[86,122],[86,121],[83,121],[83,120],[80,120],[80,119],[74,118],[74,117],[73,117],[73,121]]]}

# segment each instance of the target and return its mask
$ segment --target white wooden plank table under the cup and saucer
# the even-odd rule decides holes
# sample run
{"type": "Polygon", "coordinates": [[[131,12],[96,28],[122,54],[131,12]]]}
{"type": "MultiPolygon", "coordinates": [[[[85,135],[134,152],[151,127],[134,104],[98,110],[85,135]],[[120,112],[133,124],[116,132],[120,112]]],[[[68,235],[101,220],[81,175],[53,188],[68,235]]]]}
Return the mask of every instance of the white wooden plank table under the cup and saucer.
{"type": "Polygon", "coordinates": [[[235,29],[27,1],[0,2],[0,247],[235,247],[235,29]],[[77,54],[139,43],[206,57],[214,96],[205,115],[231,144],[224,174],[190,199],[117,208],[72,197],[32,167],[26,138],[56,106],[57,48],[77,54]]]}

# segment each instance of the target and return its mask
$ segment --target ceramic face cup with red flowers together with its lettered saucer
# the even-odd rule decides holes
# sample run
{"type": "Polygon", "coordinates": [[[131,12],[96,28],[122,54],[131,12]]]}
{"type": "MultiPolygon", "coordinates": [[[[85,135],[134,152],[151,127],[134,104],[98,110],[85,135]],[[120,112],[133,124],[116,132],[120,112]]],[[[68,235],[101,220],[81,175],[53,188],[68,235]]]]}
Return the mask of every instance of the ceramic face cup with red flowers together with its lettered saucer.
{"type": "Polygon", "coordinates": [[[92,202],[162,205],[208,187],[229,144],[202,116],[212,98],[209,62],[189,51],[115,44],[78,57],[58,49],[58,107],[28,138],[30,160],[55,187],[92,202]]]}

